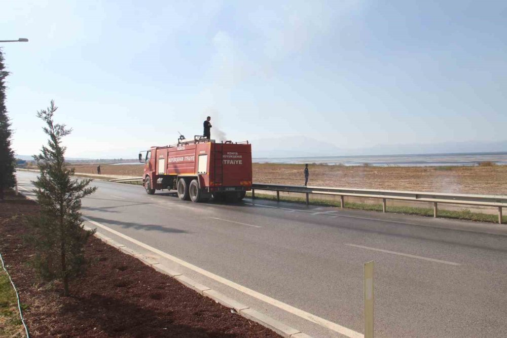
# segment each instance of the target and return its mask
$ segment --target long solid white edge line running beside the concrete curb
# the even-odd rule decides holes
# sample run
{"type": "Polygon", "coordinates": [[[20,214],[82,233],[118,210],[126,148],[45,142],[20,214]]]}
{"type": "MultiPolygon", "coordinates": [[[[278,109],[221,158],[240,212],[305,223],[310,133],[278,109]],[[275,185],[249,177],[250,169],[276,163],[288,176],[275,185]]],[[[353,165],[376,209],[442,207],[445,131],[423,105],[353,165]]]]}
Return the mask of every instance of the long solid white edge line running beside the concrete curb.
{"type": "Polygon", "coordinates": [[[306,320],[309,320],[309,321],[311,321],[313,323],[316,323],[318,325],[321,325],[323,327],[327,327],[327,328],[329,328],[329,329],[331,329],[333,331],[336,331],[338,333],[346,335],[347,337],[350,337],[350,338],[364,338],[364,335],[362,333],[353,331],[353,330],[351,330],[349,328],[346,328],[346,327],[341,326],[339,324],[333,323],[333,322],[331,322],[329,320],[326,320],[326,319],[320,318],[318,316],[312,315],[311,313],[308,313],[306,311],[303,311],[303,310],[300,310],[298,308],[295,308],[295,307],[293,307],[291,305],[288,305],[288,304],[286,304],[284,302],[281,302],[279,300],[271,298],[270,296],[266,296],[266,295],[264,295],[262,293],[259,293],[257,291],[252,290],[252,289],[244,287],[244,286],[242,286],[240,284],[234,283],[234,282],[232,282],[232,281],[230,281],[228,279],[225,279],[223,277],[215,275],[215,274],[213,274],[213,273],[211,273],[209,271],[206,271],[203,268],[195,266],[195,265],[193,265],[193,264],[191,264],[189,262],[186,262],[186,261],[184,261],[182,259],[179,259],[177,257],[171,256],[168,253],[165,253],[165,252],[163,252],[163,251],[161,251],[159,249],[156,249],[156,248],[151,247],[151,246],[149,246],[147,244],[139,242],[139,241],[137,241],[137,240],[135,240],[135,239],[127,236],[127,235],[124,235],[121,232],[118,232],[116,230],[113,230],[113,229],[105,226],[105,225],[102,225],[102,224],[100,224],[98,222],[95,222],[95,221],[89,219],[88,217],[82,216],[81,218],[84,219],[85,221],[88,221],[88,222],[90,222],[90,223],[92,223],[92,224],[100,227],[100,228],[106,229],[107,231],[110,231],[111,233],[114,233],[117,236],[120,236],[121,238],[124,238],[124,239],[126,239],[126,240],[128,240],[128,241],[130,241],[130,242],[132,242],[132,243],[134,243],[134,244],[136,244],[136,245],[144,248],[144,249],[150,250],[153,253],[156,253],[156,254],[158,254],[158,255],[160,255],[162,257],[165,257],[165,258],[167,258],[169,260],[172,260],[173,262],[175,262],[175,263],[177,263],[179,265],[183,265],[183,266],[185,266],[185,267],[187,267],[187,268],[189,268],[189,269],[191,269],[191,270],[193,270],[193,271],[195,271],[195,272],[197,272],[197,273],[199,273],[199,274],[201,274],[203,276],[211,278],[214,281],[217,281],[219,283],[227,285],[227,286],[229,286],[229,287],[231,287],[233,289],[241,291],[241,292],[243,292],[243,293],[245,293],[245,294],[247,294],[249,296],[252,296],[254,298],[260,299],[260,300],[262,300],[262,301],[264,301],[264,302],[266,302],[266,303],[268,303],[268,304],[270,304],[270,305],[272,305],[274,307],[277,307],[277,308],[282,309],[282,310],[284,310],[286,312],[292,313],[292,314],[294,314],[294,315],[296,315],[298,317],[304,318],[306,320]]]}

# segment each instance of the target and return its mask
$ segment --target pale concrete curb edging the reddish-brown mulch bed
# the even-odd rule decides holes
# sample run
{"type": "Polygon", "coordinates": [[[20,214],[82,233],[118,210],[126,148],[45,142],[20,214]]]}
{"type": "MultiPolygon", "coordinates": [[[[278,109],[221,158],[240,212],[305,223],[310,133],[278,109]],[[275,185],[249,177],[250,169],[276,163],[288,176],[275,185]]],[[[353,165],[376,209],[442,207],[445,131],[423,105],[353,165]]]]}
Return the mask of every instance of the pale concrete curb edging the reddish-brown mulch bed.
{"type": "MultiPolygon", "coordinates": [[[[87,230],[92,230],[93,228],[84,226],[87,230]]],[[[123,244],[120,244],[104,234],[100,232],[95,232],[96,238],[104,242],[105,244],[111,245],[115,249],[120,250],[121,252],[130,255],[132,257],[135,257],[139,259],[144,264],[153,267],[156,271],[167,275],[169,277],[174,278],[179,283],[182,283],[183,285],[197,291],[198,293],[202,294],[205,297],[211,298],[214,301],[222,304],[223,306],[233,309],[236,313],[238,313],[240,316],[247,318],[249,320],[252,320],[254,322],[257,322],[261,324],[262,326],[265,326],[276,333],[280,334],[283,337],[286,338],[312,338],[311,336],[302,333],[298,329],[295,329],[293,327],[287,326],[283,324],[280,321],[277,321],[276,319],[273,319],[272,317],[266,316],[256,310],[251,309],[250,307],[241,304],[240,302],[231,299],[227,297],[226,295],[217,292],[215,290],[212,290],[211,288],[199,284],[196,281],[194,281],[191,278],[188,278],[180,273],[177,273],[170,268],[165,267],[164,265],[160,264],[156,259],[152,257],[148,257],[146,255],[140,254],[136,252],[135,250],[132,250],[123,244]]]]}

